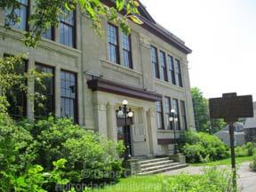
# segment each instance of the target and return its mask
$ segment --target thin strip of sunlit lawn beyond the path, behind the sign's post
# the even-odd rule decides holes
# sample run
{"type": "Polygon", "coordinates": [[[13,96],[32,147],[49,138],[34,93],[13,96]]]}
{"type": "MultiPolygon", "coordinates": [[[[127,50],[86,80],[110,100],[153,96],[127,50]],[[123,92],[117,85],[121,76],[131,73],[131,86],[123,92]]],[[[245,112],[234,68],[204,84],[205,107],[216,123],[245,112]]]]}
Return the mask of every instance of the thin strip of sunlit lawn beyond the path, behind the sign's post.
{"type": "MultiPolygon", "coordinates": [[[[252,161],[252,156],[243,156],[243,157],[236,157],[236,164],[241,164],[244,162],[252,161]]],[[[211,163],[199,163],[199,164],[189,164],[191,166],[211,166],[211,165],[229,165],[231,164],[231,159],[222,159],[219,161],[211,162],[211,163]]]]}

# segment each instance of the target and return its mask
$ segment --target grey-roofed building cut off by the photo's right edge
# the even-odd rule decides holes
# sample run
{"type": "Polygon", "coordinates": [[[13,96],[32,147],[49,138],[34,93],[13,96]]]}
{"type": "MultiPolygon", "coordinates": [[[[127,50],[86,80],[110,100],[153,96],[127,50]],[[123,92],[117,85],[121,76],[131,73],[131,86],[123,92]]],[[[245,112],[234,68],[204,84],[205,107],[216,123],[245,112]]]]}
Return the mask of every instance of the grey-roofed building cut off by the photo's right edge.
{"type": "Polygon", "coordinates": [[[256,142],[256,102],[253,103],[254,116],[246,118],[244,133],[246,142],[256,142]]]}

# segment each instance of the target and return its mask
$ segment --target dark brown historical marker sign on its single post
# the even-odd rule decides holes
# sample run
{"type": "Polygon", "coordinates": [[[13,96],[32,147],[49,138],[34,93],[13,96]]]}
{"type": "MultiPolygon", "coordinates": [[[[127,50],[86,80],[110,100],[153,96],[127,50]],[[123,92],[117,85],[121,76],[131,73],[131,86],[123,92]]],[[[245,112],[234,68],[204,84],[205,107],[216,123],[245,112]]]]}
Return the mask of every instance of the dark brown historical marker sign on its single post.
{"type": "Polygon", "coordinates": [[[241,117],[253,116],[252,95],[236,96],[236,92],[224,93],[222,98],[209,100],[210,118],[223,118],[229,125],[230,154],[233,172],[233,188],[236,189],[236,155],[234,123],[241,117]]]}

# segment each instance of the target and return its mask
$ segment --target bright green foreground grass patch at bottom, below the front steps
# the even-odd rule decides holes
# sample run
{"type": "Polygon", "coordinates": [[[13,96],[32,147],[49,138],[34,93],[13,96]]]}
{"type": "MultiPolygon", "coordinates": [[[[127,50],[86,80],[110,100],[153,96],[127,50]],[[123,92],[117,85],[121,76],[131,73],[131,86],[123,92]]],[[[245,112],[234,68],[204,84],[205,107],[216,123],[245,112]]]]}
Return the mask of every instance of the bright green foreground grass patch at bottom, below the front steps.
{"type": "MultiPolygon", "coordinates": [[[[102,189],[93,189],[93,192],[156,192],[161,191],[161,180],[163,175],[137,176],[121,179],[116,185],[107,186],[102,189]]],[[[170,177],[170,176],[169,176],[170,177]]]]}

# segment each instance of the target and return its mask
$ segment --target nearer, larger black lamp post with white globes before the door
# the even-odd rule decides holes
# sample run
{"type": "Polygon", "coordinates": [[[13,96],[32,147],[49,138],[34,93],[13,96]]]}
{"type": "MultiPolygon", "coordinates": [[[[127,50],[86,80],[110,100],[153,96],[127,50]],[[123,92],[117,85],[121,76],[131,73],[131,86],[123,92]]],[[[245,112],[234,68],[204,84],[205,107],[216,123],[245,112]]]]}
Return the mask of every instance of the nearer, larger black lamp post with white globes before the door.
{"type": "Polygon", "coordinates": [[[124,145],[125,145],[125,159],[129,159],[131,157],[130,154],[130,144],[129,144],[129,135],[128,135],[128,127],[127,127],[127,117],[132,117],[133,116],[133,112],[132,112],[132,108],[127,108],[128,105],[128,101],[127,100],[123,100],[122,102],[123,107],[119,107],[119,110],[117,112],[117,116],[124,118],[124,145]]]}

